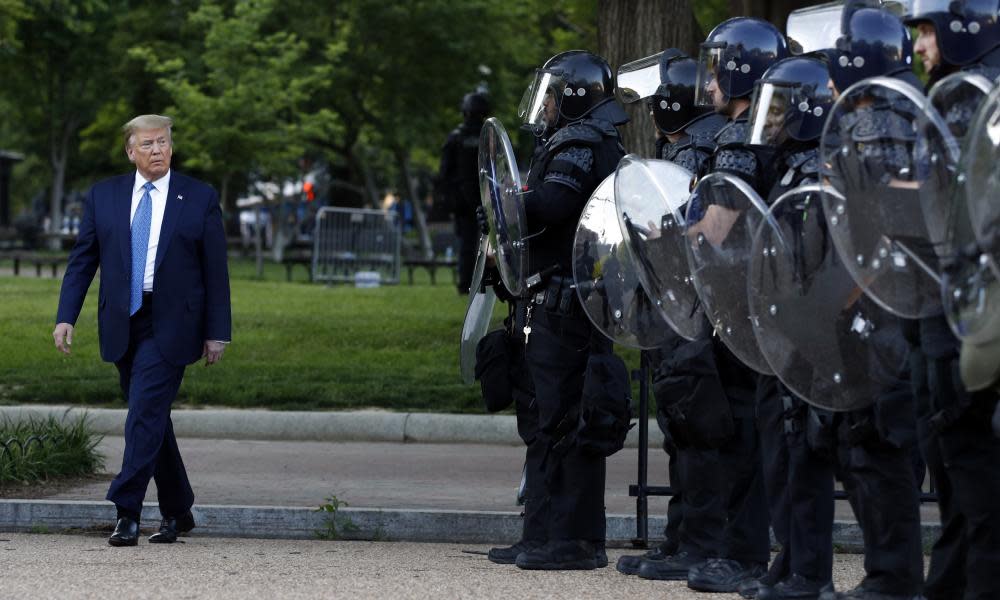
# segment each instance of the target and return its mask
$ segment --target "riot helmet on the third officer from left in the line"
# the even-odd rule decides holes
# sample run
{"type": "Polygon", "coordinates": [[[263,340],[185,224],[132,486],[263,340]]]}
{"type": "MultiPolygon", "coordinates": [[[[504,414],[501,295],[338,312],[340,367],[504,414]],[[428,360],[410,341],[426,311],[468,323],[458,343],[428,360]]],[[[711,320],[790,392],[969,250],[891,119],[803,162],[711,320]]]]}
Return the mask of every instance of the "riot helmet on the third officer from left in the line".
{"type": "Polygon", "coordinates": [[[727,99],[749,96],[764,71],[787,56],[785,36],[767,21],[751,17],[723,21],[701,45],[697,103],[713,106],[708,91],[712,81],[727,99]]]}

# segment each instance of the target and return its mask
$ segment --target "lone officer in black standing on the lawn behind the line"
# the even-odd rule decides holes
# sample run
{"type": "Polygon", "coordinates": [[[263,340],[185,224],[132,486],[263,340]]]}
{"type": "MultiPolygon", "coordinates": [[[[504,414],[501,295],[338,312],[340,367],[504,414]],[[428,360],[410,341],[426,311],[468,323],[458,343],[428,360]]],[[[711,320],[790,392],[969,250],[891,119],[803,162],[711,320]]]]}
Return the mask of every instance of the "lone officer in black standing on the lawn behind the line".
{"type": "Polygon", "coordinates": [[[441,150],[439,177],[445,198],[455,219],[458,236],[458,291],[469,293],[472,270],[479,248],[479,132],[490,114],[486,96],[472,92],[462,98],[463,122],[456,127],[441,150]]]}

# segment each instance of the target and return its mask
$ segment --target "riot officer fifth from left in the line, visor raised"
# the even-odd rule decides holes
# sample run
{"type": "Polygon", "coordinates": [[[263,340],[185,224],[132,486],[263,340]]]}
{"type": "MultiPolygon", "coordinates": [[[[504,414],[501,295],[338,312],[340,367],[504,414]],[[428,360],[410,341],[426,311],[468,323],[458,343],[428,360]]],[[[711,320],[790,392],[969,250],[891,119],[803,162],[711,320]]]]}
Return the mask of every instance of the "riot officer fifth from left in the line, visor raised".
{"type": "MultiPolygon", "coordinates": [[[[883,9],[858,8],[847,14],[836,49],[829,53],[831,83],[839,95],[872,76],[887,76],[910,85],[912,41],[902,22],[883,9]]],[[[841,119],[833,130],[848,149],[838,160],[864,165],[867,161],[904,160],[906,132],[886,99],[871,98],[862,119],[841,119]]],[[[851,167],[844,166],[847,172],[851,167]]],[[[859,172],[867,172],[861,169],[859,172]]],[[[850,185],[846,193],[850,194],[850,185]]],[[[920,593],[923,557],[920,537],[919,488],[913,472],[916,437],[913,396],[909,382],[900,380],[864,410],[836,415],[835,458],[862,529],[865,572],[862,582],[838,598],[908,599],[920,593]]]]}

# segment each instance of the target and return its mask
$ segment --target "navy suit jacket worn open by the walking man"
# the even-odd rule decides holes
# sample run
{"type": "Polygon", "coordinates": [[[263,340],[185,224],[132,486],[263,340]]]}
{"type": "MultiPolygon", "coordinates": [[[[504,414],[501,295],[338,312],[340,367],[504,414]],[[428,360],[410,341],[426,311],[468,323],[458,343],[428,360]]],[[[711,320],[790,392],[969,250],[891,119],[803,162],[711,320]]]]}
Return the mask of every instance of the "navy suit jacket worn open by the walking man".
{"type": "MultiPolygon", "coordinates": [[[[76,323],[100,267],[97,327],[108,362],[120,360],[129,344],[134,185],[133,172],[90,189],[56,315],[57,323],[76,323]]],[[[230,340],[226,235],[219,196],[207,184],[172,171],[166,197],[153,271],[153,337],[167,362],[183,366],[201,357],[205,340],[230,340]]]]}

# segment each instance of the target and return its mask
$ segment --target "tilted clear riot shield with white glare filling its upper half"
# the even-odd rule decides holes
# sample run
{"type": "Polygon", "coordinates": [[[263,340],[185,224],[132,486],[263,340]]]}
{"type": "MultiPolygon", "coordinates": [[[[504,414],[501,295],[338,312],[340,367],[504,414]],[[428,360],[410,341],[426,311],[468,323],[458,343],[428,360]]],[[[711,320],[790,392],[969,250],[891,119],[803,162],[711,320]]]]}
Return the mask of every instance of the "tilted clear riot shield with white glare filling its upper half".
{"type": "Polygon", "coordinates": [[[693,340],[703,312],[684,249],[684,204],[694,176],[663,160],[628,155],[618,163],[615,203],[625,250],[670,327],[693,340]]]}

